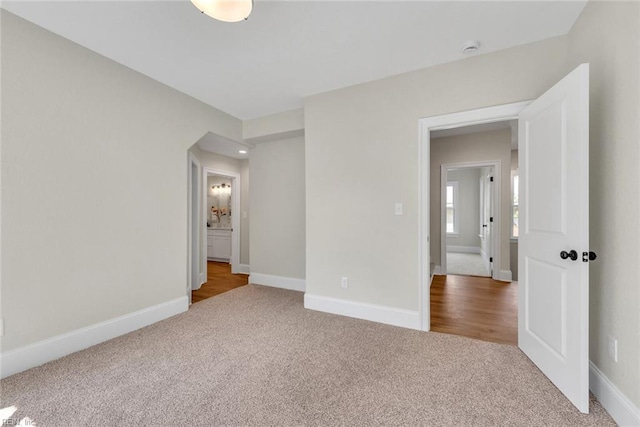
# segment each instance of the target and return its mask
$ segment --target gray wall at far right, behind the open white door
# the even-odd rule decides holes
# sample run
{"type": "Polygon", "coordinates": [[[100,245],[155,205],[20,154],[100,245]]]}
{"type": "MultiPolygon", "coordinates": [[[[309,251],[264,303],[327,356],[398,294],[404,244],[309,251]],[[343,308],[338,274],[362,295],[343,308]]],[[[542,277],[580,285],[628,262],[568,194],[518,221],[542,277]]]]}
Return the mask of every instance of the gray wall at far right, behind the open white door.
{"type": "Polygon", "coordinates": [[[640,407],[640,3],[590,1],[569,33],[590,63],[590,357],[640,407]],[[607,337],[618,339],[618,362],[607,337]]]}

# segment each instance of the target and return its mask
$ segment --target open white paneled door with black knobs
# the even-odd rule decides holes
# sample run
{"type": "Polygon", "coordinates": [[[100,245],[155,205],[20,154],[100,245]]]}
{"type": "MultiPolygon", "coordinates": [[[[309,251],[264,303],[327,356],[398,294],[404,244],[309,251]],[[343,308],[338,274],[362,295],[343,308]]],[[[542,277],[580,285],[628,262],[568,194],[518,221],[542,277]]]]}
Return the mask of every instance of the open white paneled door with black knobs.
{"type": "Polygon", "coordinates": [[[588,413],[589,64],[527,106],[518,125],[518,345],[588,413]]]}

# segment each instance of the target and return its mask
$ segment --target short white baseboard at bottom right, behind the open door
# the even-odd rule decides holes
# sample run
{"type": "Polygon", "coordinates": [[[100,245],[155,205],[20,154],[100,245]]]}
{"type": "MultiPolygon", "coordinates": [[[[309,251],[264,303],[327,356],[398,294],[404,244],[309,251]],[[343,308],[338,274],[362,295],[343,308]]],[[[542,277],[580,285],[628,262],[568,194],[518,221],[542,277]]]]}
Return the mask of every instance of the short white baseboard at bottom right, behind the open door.
{"type": "Polygon", "coordinates": [[[640,409],[593,362],[589,362],[589,388],[619,426],[640,426],[640,409]]]}

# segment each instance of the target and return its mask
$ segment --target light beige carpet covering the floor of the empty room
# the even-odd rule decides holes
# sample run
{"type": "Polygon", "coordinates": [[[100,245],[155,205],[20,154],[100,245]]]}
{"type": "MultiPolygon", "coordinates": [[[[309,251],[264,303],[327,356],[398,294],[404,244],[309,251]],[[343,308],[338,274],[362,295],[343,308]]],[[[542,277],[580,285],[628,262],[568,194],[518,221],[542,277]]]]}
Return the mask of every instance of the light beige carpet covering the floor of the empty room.
{"type": "Polygon", "coordinates": [[[248,285],[3,380],[38,426],[609,426],[516,348],[305,310],[248,285]]]}

